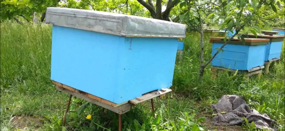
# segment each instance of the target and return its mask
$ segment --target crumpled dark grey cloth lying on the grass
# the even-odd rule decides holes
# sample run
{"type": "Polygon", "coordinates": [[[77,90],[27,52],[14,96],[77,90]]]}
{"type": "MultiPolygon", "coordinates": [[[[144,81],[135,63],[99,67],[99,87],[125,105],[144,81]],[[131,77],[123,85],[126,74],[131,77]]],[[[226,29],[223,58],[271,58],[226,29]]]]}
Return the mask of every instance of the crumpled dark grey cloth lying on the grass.
{"type": "Polygon", "coordinates": [[[260,114],[258,111],[250,109],[243,97],[224,95],[217,104],[212,104],[210,107],[214,113],[217,113],[212,121],[214,125],[240,125],[245,117],[249,123],[254,121],[258,129],[263,127],[273,131],[277,130],[273,128],[274,125],[277,125],[276,121],[270,119],[266,114],[260,114]]]}

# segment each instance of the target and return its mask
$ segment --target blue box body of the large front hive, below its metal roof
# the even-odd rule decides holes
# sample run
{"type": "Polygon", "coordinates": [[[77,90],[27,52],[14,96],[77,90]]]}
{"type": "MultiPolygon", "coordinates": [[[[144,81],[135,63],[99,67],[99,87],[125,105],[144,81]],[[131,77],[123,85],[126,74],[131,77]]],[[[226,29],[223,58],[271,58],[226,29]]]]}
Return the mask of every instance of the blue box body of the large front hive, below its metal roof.
{"type": "Polygon", "coordinates": [[[51,79],[122,103],[172,85],[178,39],[53,26],[51,79]]]}

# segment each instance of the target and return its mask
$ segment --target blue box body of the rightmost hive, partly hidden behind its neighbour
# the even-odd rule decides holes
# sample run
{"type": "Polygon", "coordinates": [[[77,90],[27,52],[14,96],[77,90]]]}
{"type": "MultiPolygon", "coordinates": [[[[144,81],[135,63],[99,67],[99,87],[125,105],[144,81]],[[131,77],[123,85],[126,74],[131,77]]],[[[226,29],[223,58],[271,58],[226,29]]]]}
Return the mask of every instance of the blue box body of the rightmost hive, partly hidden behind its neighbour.
{"type": "Polygon", "coordinates": [[[269,47],[269,50],[265,52],[264,61],[268,61],[274,58],[280,58],[282,44],[283,41],[270,42],[269,44],[267,44],[266,48],[269,47]]]}

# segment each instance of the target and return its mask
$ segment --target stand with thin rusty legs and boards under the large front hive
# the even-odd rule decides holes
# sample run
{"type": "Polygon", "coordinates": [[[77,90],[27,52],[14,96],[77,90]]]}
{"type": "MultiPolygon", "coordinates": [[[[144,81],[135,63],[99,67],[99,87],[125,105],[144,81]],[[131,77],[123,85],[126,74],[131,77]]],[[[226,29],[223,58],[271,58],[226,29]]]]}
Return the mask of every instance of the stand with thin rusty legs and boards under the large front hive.
{"type": "MultiPolygon", "coordinates": [[[[128,112],[132,106],[139,104],[139,103],[142,103],[146,100],[151,100],[151,109],[152,109],[152,111],[154,111],[155,109],[154,109],[154,105],[153,105],[153,98],[158,97],[158,96],[164,97],[166,93],[172,91],[169,88],[163,88],[160,90],[145,93],[142,96],[136,97],[133,100],[129,100],[129,101],[123,102],[121,104],[116,104],[116,103],[113,103],[111,101],[100,98],[98,96],[94,96],[94,95],[89,94],[87,92],[77,90],[75,88],[72,88],[72,87],[65,85],[65,84],[61,84],[61,83],[56,82],[56,81],[52,81],[52,83],[55,84],[56,89],[58,89],[59,91],[68,93],[70,95],[69,100],[68,100],[68,104],[67,104],[67,108],[66,108],[66,111],[64,114],[63,126],[65,126],[66,116],[67,116],[67,113],[69,111],[71,98],[72,98],[72,96],[76,96],[78,98],[81,98],[81,99],[86,100],[88,102],[91,102],[93,104],[99,105],[99,106],[106,108],[108,110],[111,110],[115,113],[118,113],[119,114],[119,127],[118,127],[119,131],[121,131],[121,126],[122,126],[121,125],[121,115],[128,112]]],[[[153,117],[155,117],[155,116],[153,116],[153,117]]]]}

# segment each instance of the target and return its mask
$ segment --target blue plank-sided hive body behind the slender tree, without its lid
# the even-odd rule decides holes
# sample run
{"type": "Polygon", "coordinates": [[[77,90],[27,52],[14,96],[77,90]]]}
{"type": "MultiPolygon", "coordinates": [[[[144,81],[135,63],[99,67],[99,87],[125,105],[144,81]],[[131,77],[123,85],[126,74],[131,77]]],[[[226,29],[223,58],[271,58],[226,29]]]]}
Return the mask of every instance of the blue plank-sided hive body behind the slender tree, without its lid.
{"type": "MultiPolygon", "coordinates": [[[[213,43],[212,55],[223,43],[213,43]]],[[[234,70],[249,70],[264,65],[266,45],[247,46],[227,44],[212,61],[212,66],[234,70]]]]}

